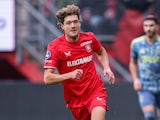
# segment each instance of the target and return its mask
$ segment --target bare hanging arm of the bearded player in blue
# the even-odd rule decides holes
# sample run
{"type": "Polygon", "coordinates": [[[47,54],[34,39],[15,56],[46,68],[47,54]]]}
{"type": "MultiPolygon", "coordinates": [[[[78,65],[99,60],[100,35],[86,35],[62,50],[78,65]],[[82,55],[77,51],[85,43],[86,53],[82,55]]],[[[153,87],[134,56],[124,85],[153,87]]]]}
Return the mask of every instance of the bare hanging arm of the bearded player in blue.
{"type": "Polygon", "coordinates": [[[131,59],[129,63],[129,69],[133,78],[133,87],[136,91],[141,89],[141,82],[138,78],[138,65],[137,61],[131,59]]]}

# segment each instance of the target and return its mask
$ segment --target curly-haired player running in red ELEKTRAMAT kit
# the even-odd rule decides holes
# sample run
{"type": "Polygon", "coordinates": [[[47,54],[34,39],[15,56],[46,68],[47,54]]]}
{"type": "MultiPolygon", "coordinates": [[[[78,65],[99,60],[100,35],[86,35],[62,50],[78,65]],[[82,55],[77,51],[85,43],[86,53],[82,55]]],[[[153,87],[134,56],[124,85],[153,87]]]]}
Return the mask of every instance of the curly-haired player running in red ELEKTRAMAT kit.
{"type": "Polygon", "coordinates": [[[62,83],[66,106],[76,120],[105,120],[107,94],[96,72],[94,53],[103,66],[104,76],[114,84],[108,55],[95,35],[80,32],[80,9],[68,5],[56,13],[64,34],[48,44],[44,62],[44,82],[62,83]],[[59,74],[54,73],[58,70],[59,74]]]}

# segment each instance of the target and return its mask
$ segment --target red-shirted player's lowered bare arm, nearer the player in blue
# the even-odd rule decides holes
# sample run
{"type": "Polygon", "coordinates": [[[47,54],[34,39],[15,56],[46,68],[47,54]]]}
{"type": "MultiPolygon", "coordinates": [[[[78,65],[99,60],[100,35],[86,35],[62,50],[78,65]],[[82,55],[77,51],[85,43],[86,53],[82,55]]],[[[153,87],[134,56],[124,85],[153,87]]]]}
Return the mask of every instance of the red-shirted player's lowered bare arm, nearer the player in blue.
{"type": "Polygon", "coordinates": [[[104,76],[109,76],[109,83],[114,84],[115,83],[115,77],[112,73],[110,66],[109,66],[109,59],[108,54],[104,47],[101,47],[101,49],[96,53],[96,56],[98,57],[100,63],[103,66],[103,74],[104,76]]]}

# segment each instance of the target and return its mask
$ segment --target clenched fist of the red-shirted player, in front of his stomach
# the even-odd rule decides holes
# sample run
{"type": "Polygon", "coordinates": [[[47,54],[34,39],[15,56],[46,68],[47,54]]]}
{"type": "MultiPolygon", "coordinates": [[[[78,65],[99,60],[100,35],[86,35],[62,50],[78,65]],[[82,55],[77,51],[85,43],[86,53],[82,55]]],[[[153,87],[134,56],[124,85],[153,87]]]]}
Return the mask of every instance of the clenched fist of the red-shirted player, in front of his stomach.
{"type": "Polygon", "coordinates": [[[72,72],[70,72],[71,78],[72,79],[80,79],[83,75],[83,70],[82,69],[76,69],[72,72]]]}

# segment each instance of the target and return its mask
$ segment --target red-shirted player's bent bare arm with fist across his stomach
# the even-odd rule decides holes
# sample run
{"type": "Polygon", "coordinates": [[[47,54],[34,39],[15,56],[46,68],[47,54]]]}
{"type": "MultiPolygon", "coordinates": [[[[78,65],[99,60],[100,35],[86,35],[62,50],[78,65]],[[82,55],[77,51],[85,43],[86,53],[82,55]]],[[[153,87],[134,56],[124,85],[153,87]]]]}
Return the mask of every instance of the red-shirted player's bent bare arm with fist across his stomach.
{"type": "Polygon", "coordinates": [[[83,71],[81,69],[76,69],[72,72],[65,74],[55,74],[53,73],[55,69],[45,69],[44,71],[44,83],[47,85],[58,84],[69,79],[80,79],[82,77],[83,71]]]}

